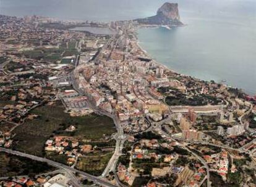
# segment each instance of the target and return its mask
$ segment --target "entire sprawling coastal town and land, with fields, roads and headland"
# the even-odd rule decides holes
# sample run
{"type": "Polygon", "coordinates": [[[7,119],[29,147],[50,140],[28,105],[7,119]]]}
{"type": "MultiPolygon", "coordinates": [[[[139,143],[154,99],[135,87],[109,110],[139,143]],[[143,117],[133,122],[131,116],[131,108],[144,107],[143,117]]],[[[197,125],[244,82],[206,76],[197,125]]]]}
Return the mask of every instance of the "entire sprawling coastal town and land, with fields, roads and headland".
{"type": "Polygon", "coordinates": [[[0,186],[255,187],[256,97],[153,60],[136,32],[159,25],[183,25],[177,4],[110,23],[0,15],[0,186]]]}

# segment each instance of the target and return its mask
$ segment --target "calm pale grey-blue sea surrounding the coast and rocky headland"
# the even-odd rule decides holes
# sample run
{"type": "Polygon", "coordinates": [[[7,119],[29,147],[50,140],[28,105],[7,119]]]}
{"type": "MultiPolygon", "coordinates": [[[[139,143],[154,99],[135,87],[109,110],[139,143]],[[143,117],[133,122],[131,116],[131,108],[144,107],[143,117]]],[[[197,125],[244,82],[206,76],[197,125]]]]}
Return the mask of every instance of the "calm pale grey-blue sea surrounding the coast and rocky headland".
{"type": "MultiPolygon", "coordinates": [[[[0,0],[0,14],[109,22],[155,15],[168,0],[0,0]]],[[[140,28],[139,44],[178,73],[256,95],[256,1],[173,0],[182,27],[140,28]]]]}

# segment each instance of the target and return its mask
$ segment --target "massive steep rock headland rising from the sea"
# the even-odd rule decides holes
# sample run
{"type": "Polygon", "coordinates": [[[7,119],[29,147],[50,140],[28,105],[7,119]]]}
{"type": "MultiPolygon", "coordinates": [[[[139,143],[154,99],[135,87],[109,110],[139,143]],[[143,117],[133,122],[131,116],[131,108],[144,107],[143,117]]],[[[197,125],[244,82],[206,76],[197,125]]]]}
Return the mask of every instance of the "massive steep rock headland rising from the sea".
{"type": "Polygon", "coordinates": [[[171,2],[165,2],[163,6],[158,9],[156,15],[148,18],[137,19],[135,21],[144,25],[183,25],[179,17],[178,4],[171,2]]]}

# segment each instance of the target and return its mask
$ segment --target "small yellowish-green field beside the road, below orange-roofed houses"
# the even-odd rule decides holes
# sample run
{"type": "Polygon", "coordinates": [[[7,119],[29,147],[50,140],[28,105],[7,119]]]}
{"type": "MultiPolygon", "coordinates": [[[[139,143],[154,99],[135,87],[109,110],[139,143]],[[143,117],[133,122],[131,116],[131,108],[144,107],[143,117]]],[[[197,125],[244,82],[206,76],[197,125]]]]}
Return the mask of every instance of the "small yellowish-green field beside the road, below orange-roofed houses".
{"type": "Polygon", "coordinates": [[[99,176],[104,171],[112,154],[113,152],[104,154],[98,153],[94,156],[80,157],[76,167],[91,175],[99,176]]]}

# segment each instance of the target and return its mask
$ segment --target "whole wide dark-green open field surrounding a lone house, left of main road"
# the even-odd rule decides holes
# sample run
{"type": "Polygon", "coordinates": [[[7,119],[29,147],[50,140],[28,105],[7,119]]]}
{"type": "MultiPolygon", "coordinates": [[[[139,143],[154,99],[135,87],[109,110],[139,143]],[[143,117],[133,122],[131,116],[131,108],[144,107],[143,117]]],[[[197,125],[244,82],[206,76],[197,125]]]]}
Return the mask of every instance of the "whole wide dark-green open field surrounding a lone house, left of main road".
{"type": "Polygon", "coordinates": [[[40,106],[32,111],[40,117],[28,120],[14,130],[16,133],[14,148],[26,153],[43,156],[45,141],[51,135],[72,135],[83,139],[99,140],[103,135],[116,132],[111,118],[92,114],[90,116],[71,117],[64,113],[60,102],[54,105],[40,106]],[[77,130],[66,133],[63,129],[75,125],[77,130]]]}

